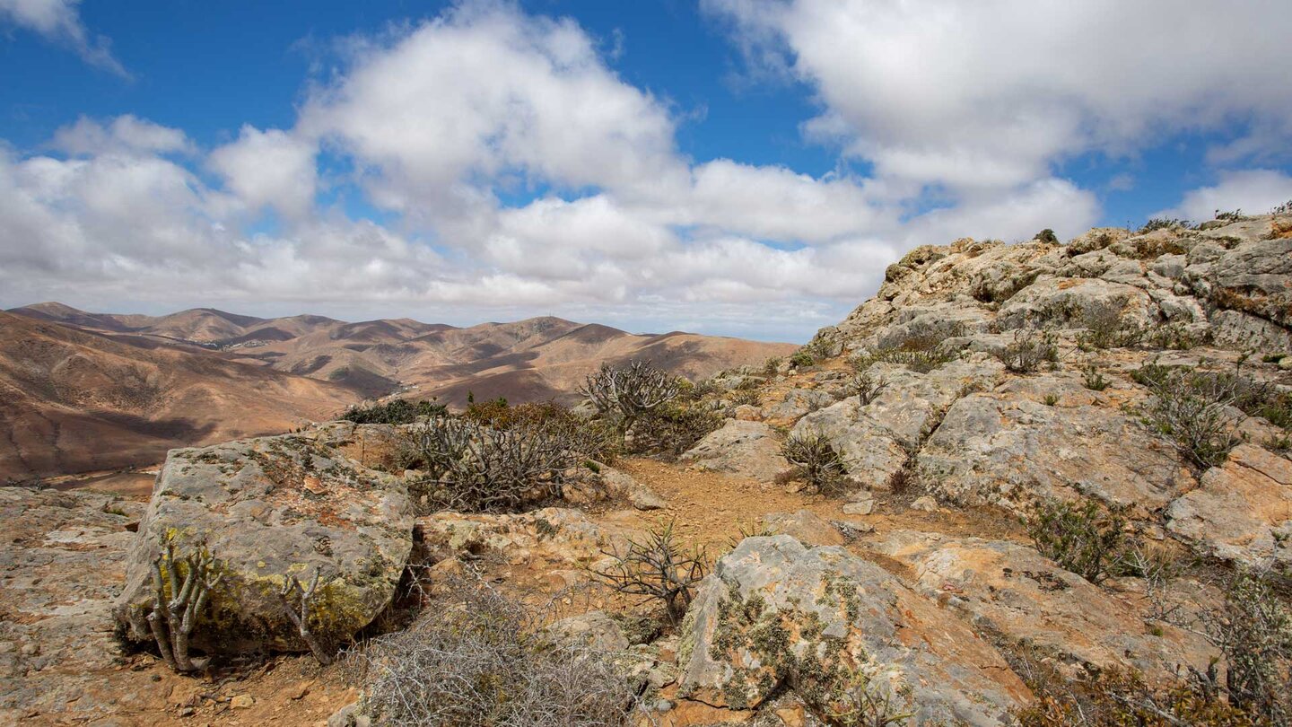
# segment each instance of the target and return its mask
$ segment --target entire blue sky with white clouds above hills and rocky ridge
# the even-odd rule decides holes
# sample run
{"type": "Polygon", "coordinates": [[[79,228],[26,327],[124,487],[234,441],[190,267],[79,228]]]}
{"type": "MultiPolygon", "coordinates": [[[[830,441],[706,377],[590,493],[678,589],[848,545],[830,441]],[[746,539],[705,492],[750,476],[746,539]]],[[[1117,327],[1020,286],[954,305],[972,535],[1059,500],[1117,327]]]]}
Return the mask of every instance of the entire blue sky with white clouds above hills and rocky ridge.
{"type": "Polygon", "coordinates": [[[916,244],[1292,198],[1284,3],[1072,5],[0,0],[0,305],[805,340],[916,244]]]}

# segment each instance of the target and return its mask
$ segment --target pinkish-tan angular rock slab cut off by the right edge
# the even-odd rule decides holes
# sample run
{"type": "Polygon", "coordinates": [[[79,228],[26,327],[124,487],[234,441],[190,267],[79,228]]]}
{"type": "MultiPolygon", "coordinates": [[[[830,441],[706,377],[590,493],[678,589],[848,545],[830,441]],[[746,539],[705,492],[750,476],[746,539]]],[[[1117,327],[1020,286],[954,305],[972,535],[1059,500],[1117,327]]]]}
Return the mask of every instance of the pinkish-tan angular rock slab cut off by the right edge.
{"type": "Polygon", "coordinates": [[[1292,461],[1239,445],[1167,508],[1167,529],[1243,565],[1292,563],[1292,461]]]}

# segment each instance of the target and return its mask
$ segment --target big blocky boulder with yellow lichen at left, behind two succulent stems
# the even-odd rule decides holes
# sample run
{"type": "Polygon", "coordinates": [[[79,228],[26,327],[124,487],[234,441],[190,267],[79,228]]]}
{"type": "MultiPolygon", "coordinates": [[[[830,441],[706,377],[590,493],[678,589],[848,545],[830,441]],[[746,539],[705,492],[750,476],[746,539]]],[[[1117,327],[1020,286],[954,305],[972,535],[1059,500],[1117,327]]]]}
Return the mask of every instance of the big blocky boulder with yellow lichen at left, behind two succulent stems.
{"type": "Polygon", "coordinates": [[[317,573],[313,630],[341,643],[389,603],[412,548],[403,483],[311,436],[176,449],[158,475],[130,550],[116,620],[150,638],[154,561],[204,554],[221,577],[191,643],[207,653],[304,651],[279,596],[317,573]]]}

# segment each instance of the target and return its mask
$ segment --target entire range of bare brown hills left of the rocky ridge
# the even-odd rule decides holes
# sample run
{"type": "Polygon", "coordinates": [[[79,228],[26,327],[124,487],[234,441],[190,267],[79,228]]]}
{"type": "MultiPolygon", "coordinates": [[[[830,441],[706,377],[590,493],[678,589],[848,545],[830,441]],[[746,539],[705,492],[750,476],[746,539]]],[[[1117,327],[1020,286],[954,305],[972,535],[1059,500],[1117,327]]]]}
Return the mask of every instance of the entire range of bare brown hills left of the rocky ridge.
{"type": "Polygon", "coordinates": [[[793,349],[554,317],[455,327],[40,303],[0,313],[0,479],[151,463],[169,448],[280,432],[393,393],[451,406],[472,395],[570,402],[603,361],[649,358],[698,379],[793,349]]]}

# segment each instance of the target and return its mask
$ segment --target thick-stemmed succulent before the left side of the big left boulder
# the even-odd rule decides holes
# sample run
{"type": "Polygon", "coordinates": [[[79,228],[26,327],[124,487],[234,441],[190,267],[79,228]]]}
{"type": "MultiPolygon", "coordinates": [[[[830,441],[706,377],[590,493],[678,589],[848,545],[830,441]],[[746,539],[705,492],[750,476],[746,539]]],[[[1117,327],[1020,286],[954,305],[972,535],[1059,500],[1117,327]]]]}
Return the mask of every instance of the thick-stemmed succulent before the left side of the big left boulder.
{"type": "Polygon", "coordinates": [[[212,589],[224,578],[212,573],[213,564],[211,555],[204,552],[177,561],[174,546],[169,543],[152,561],[152,608],[147,622],[162,658],[174,671],[196,669],[189,656],[189,638],[212,589]]]}

